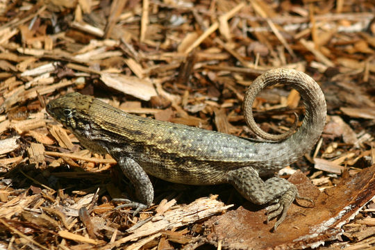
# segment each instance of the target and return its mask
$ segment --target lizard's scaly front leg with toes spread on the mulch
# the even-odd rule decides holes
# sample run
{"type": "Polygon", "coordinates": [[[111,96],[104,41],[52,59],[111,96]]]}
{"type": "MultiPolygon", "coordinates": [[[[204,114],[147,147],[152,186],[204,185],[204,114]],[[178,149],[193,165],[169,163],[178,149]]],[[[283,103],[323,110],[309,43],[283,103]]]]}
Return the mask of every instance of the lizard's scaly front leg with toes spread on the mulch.
{"type": "Polygon", "coordinates": [[[135,208],[134,215],[136,215],[140,210],[151,206],[153,201],[152,183],[143,168],[132,158],[129,158],[128,156],[119,156],[116,160],[117,164],[122,169],[122,172],[133,184],[135,197],[137,197],[140,202],[129,201],[127,199],[114,199],[114,201],[126,201],[126,204],[117,206],[117,208],[135,208]]]}

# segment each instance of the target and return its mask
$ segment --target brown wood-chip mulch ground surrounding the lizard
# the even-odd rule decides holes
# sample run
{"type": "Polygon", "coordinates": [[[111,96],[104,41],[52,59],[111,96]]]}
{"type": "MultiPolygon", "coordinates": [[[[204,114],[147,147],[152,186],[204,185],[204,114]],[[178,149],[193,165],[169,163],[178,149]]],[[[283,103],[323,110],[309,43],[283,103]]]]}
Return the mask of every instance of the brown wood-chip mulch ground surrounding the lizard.
{"type": "MultiPolygon", "coordinates": [[[[0,1],[0,249],[372,249],[374,13],[373,1],[354,0],[0,1]],[[315,206],[292,204],[276,233],[265,207],[230,185],[151,178],[153,206],[115,209],[112,199],[134,195],[115,160],[44,109],[76,91],[254,138],[244,93],[276,67],[313,77],[328,109],[317,145],[279,173],[315,206]]],[[[253,108],[269,133],[303,119],[288,86],[267,88],[253,108]]]]}

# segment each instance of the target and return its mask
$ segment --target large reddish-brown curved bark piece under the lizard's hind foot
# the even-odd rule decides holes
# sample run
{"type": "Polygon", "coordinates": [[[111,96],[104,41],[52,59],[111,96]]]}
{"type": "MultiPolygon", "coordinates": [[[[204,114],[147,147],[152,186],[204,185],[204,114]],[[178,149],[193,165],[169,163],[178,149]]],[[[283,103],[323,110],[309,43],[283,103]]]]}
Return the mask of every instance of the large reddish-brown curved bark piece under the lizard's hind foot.
{"type": "Polygon", "coordinates": [[[315,201],[313,208],[292,205],[288,217],[271,233],[272,225],[265,224],[265,209],[229,211],[204,223],[212,228],[208,240],[217,244],[223,240],[228,249],[300,249],[317,247],[326,240],[342,234],[341,226],[349,222],[375,196],[375,166],[363,169],[351,178],[343,179],[336,187],[319,192],[301,172],[290,177],[300,195],[315,201]],[[215,225],[215,226],[214,226],[215,225]]]}

